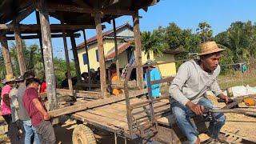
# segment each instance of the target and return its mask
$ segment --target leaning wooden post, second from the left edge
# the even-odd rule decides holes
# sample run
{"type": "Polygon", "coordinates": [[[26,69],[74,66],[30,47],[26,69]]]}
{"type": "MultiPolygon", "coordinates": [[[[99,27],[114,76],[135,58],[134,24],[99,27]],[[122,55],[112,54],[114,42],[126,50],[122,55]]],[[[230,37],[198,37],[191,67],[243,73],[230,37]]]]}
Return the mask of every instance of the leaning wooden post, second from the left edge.
{"type": "MultiPolygon", "coordinates": [[[[14,20],[15,21],[15,20],[14,20]]],[[[16,50],[18,56],[18,66],[20,74],[23,75],[26,72],[26,63],[24,60],[23,47],[22,47],[22,38],[18,28],[18,23],[14,22],[14,38],[16,42],[16,50]]]]}

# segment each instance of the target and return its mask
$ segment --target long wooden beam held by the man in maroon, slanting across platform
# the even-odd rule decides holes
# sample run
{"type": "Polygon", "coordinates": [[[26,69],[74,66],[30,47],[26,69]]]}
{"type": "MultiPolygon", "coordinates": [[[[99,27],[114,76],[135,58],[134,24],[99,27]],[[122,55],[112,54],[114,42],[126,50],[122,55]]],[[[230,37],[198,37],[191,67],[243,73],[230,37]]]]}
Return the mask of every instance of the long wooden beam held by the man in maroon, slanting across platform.
{"type": "MultiPolygon", "coordinates": [[[[135,98],[139,95],[143,95],[146,93],[147,93],[146,89],[134,90],[134,91],[130,91],[129,95],[130,95],[130,98],[135,98]]],[[[122,95],[115,96],[115,97],[98,99],[93,102],[86,102],[86,103],[82,103],[82,104],[78,104],[78,105],[74,105],[74,106],[67,106],[67,107],[64,107],[64,108],[61,108],[58,110],[52,110],[49,112],[49,114],[52,117],[58,117],[58,116],[65,115],[65,114],[72,114],[72,113],[75,113],[75,112],[78,112],[81,110],[92,109],[92,108],[98,107],[98,106],[104,106],[104,105],[114,103],[114,102],[120,102],[124,99],[125,99],[125,96],[122,94],[122,95]]]]}

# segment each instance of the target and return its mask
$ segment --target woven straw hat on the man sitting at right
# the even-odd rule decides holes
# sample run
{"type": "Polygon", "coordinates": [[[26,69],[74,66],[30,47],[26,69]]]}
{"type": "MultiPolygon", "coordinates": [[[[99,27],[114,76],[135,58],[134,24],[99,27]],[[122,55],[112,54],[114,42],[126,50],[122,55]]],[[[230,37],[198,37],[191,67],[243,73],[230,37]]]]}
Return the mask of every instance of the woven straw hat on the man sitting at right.
{"type": "Polygon", "coordinates": [[[204,42],[201,44],[200,46],[200,52],[198,53],[198,55],[205,55],[205,54],[213,54],[213,53],[217,53],[220,52],[222,50],[225,49],[221,49],[218,47],[217,43],[212,41],[212,42],[204,42]]]}

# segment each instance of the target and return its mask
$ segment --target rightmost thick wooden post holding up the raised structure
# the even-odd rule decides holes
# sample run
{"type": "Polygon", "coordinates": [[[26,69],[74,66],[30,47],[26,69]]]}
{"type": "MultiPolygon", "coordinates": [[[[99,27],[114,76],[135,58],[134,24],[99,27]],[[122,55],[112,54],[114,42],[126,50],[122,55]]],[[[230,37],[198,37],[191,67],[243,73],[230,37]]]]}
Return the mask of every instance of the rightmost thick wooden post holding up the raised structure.
{"type": "MultiPolygon", "coordinates": [[[[139,30],[139,18],[138,11],[133,15],[134,20],[134,44],[135,44],[135,60],[138,66],[142,66],[142,43],[141,43],[141,34],[139,30]]],[[[143,87],[143,70],[142,67],[137,68],[137,86],[140,88],[143,87]]]]}

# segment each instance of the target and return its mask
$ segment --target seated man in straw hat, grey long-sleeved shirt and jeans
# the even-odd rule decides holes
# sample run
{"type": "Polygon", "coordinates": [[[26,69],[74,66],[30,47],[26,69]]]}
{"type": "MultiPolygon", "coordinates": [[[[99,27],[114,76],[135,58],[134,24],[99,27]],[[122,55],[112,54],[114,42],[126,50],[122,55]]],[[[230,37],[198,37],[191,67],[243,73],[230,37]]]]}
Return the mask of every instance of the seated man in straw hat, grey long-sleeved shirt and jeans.
{"type": "MultiPolygon", "coordinates": [[[[171,109],[178,127],[189,143],[200,143],[198,131],[190,122],[190,118],[194,115],[202,115],[205,108],[214,107],[206,98],[206,91],[211,90],[218,98],[229,101],[229,98],[222,94],[217,83],[220,73],[218,62],[224,49],[220,49],[216,42],[205,42],[200,47],[201,51],[198,54],[200,59],[183,63],[169,89],[171,109]]],[[[222,113],[214,113],[214,117],[217,120],[210,122],[208,134],[211,140],[218,141],[222,139],[219,132],[226,118],[222,113]]]]}

